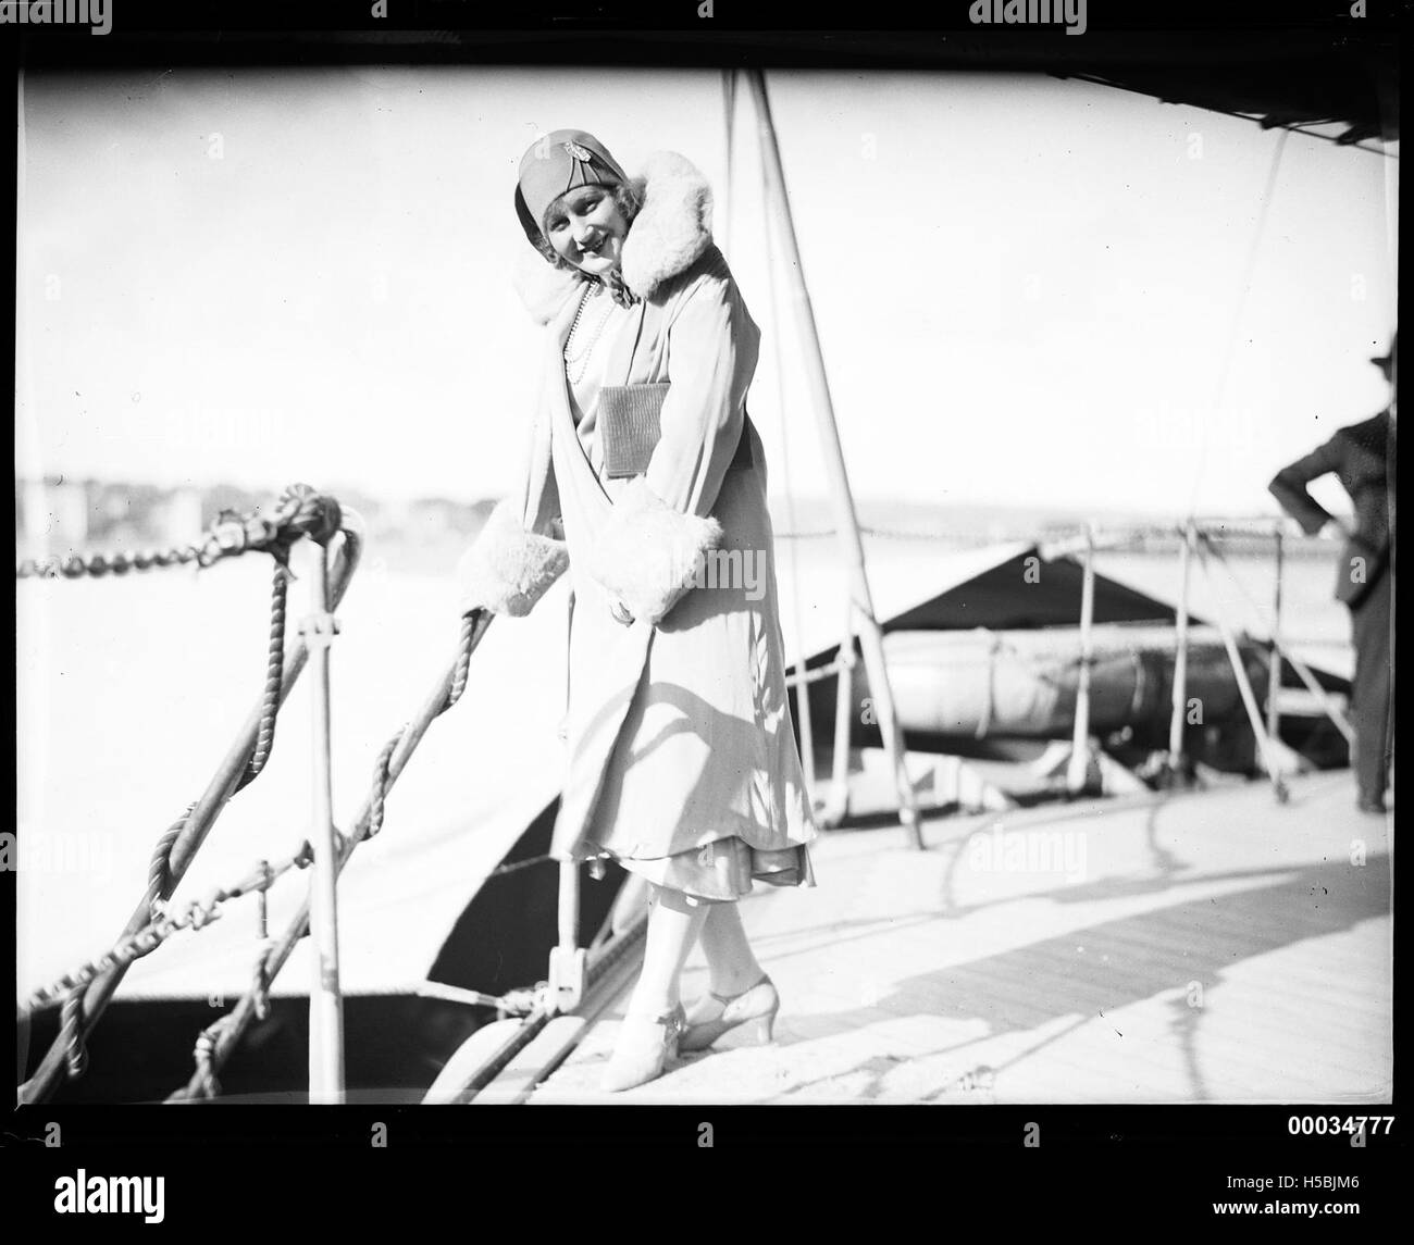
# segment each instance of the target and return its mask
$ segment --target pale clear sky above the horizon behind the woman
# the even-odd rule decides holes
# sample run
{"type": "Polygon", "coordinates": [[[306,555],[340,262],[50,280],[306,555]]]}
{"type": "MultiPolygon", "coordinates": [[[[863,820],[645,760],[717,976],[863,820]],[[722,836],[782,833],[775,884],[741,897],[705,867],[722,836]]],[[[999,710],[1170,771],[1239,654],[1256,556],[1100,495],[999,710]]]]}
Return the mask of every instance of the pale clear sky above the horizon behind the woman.
{"type": "MultiPolygon", "coordinates": [[[[766,83],[860,499],[1273,514],[1280,466],[1386,404],[1367,358],[1396,319],[1396,158],[1045,76],[766,83]]],[[[720,73],[31,72],[21,92],[17,473],[509,492],[537,332],[515,172],[577,127],[631,171],[667,148],[707,175],[764,331],[748,408],[772,496],[826,490],[752,100],[728,177],[720,73]]],[[[1333,479],[1314,492],[1349,509],[1333,479]]]]}

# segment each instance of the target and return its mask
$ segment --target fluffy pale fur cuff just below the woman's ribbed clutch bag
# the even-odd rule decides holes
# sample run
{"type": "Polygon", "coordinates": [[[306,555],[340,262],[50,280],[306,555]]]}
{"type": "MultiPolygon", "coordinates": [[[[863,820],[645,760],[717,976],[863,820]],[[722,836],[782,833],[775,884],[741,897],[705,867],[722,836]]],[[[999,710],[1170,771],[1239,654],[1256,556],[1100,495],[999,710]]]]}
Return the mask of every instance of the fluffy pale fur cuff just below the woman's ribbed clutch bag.
{"type": "Polygon", "coordinates": [[[588,572],[635,618],[656,626],[697,582],[703,555],[721,544],[715,519],[682,514],[639,476],[614,503],[588,553],[588,572]]]}

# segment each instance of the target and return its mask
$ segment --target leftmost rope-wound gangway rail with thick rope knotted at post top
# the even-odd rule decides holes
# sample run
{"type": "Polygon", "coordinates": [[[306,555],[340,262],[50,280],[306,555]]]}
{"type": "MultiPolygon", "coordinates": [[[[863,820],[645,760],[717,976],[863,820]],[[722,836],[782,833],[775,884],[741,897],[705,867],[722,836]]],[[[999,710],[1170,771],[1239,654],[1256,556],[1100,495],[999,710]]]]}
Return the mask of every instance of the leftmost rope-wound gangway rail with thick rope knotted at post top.
{"type": "MultiPolygon", "coordinates": [[[[352,516],[351,516],[352,517],[352,516]]],[[[157,565],[195,562],[198,568],[214,565],[225,557],[245,553],[269,553],[274,561],[271,588],[270,643],[266,659],[266,681],[260,701],[232,745],[202,797],[161,835],[153,849],[147,886],[132,917],[119,934],[113,948],[105,955],[81,965],[69,976],[62,996],[59,1032],[35,1073],[18,1090],[20,1102],[44,1101],[55,1088],[61,1071],[69,1078],[82,1074],[86,1066],[85,1040],[98,1023],[129,965],[161,945],[175,928],[199,927],[201,909],[188,910],[185,924],[168,928],[163,924],[160,904],[171,896],[189,868],[197,851],[211,832],[216,818],[230,797],[249,786],[263,770],[274,742],[274,722],[280,705],[304,668],[308,649],[303,639],[293,654],[286,653],[286,588],[290,578],[288,554],[291,545],[308,537],[320,544],[335,534],[344,540],[329,579],[331,608],[342,599],[358,567],[362,541],[358,523],[346,521],[338,502],[315,492],[308,485],[291,485],[280,496],[276,512],[269,519],[259,514],[222,514],[212,524],[206,540],[177,550],[180,557],[157,554],[93,554],[47,562],[21,562],[17,578],[64,578],[82,575],[102,577],[109,572],[146,570],[157,565]],[[158,934],[165,928],[165,934],[158,934]],[[146,948],[146,950],[144,950],[146,948]]],[[[168,551],[171,553],[171,551],[168,551]]],[[[180,919],[181,920],[181,919],[180,919]]],[[[33,1002],[33,999],[31,999],[33,1002]]]]}

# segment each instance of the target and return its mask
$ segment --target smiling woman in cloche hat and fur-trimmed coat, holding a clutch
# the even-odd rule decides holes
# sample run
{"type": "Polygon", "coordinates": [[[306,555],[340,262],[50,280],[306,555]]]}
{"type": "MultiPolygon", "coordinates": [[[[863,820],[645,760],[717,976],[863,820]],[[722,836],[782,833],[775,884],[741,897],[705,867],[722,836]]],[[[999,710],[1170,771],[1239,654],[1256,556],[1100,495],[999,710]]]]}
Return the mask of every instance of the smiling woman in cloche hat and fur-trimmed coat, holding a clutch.
{"type": "Polygon", "coordinates": [[[523,615],[570,571],[567,769],[551,852],[650,887],[643,971],[604,1088],[660,1075],[779,1008],[735,900],[813,886],[785,687],[766,468],[745,397],[759,331],[713,246],[711,195],[659,153],[629,179],[557,130],[520,161],[546,326],[529,471],[462,560],[462,612],[523,615]],[[563,534],[563,540],[560,538],[563,534]],[[679,975],[700,938],[710,992],[679,975]]]}

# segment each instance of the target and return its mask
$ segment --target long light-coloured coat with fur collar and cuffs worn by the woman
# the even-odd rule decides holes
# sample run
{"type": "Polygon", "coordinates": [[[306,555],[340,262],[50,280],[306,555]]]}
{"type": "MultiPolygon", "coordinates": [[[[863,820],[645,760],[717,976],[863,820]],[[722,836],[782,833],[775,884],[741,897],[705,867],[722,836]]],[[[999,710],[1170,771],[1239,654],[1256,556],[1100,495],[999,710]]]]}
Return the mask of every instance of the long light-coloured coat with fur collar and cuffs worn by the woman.
{"type": "Polygon", "coordinates": [[[527,252],[537,267],[520,293],[544,329],[529,468],[462,560],[461,605],[523,615],[568,568],[556,856],[652,859],[730,835],[789,848],[816,830],[783,677],[765,455],[745,408],[759,331],[711,242],[697,170],[660,153],[639,189],[621,271],[641,301],[607,383],[669,382],[660,439],[643,475],[595,475],[561,353],[584,285],[527,252]],[[747,468],[732,466],[742,435],[747,468]]]}

